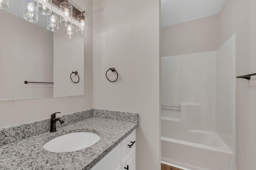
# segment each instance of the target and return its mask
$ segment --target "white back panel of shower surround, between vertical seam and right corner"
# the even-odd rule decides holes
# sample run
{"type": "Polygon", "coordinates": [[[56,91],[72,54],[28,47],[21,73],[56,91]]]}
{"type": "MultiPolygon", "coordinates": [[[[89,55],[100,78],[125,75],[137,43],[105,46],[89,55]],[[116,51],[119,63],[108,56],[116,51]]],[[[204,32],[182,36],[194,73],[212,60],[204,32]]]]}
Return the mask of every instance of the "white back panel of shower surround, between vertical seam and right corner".
{"type": "Polygon", "coordinates": [[[215,130],[215,51],[182,56],[181,102],[200,104],[200,128],[215,130]]]}

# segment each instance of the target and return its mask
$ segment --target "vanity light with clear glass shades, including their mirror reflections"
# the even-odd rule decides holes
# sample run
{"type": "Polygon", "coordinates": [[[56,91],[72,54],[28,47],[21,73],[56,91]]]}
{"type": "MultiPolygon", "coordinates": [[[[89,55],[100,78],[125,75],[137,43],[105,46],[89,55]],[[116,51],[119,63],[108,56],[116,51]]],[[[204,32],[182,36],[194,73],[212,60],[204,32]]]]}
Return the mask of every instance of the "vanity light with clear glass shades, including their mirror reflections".
{"type": "MultiPolygon", "coordinates": [[[[47,16],[47,29],[49,31],[59,30],[59,20],[60,24],[65,26],[65,35],[68,39],[71,39],[75,25],[76,31],[80,31],[80,34],[84,35],[88,19],[84,16],[84,11],[80,12],[74,7],[74,17],[77,17],[77,20],[74,20],[73,24],[73,6],[68,0],[61,1],[62,3],[59,4],[56,0],[24,0],[24,19],[30,22],[37,22],[39,12],[47,16]],[[60,6],[60,11],[56,11],[55,8],[52,11],[52,3],[57,7],[60,6]]],[[[4,7],[4,4],[9,4],[9,0],[0,0],[0,7],[4,7]]]]}

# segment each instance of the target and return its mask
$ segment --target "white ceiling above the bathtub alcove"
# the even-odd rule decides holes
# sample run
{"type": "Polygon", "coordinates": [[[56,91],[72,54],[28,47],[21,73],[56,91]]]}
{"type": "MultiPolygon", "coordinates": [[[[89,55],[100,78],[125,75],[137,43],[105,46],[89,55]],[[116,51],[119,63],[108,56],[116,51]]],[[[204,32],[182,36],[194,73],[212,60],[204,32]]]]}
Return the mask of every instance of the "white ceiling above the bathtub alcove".
{"type": "Polygon", "coordinates": [[[161,0],[161,26],[217,15],[225,2],[226,0],[161,0]]]}

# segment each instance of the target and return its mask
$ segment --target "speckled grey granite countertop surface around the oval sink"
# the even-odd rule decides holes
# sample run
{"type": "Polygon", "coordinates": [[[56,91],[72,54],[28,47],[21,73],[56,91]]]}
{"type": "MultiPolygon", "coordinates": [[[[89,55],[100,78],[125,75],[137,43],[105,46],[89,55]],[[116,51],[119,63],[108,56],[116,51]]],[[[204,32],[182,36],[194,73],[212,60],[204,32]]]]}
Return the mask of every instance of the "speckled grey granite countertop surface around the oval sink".
{"type": "Polygon", "coordinates": [[[0,169],[89,170],[136,127],[138,123],[101,117],[57,127],[57,132],[45,132],[1,146],[0,169]],[[55,153],[43,148],[51,139],[72,132],[94,132],[100,140],[91,147],[74,152],[55,153]]]}

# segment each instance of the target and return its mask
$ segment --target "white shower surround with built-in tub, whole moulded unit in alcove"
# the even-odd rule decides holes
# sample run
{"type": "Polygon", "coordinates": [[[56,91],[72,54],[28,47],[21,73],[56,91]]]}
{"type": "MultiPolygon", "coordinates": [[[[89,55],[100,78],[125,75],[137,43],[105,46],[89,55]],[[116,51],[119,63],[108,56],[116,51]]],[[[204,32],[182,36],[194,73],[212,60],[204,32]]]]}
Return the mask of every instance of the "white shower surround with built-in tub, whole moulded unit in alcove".
{"type": "Polygon", "coordinates": [[[162,58],[161,119],[163,163],[236,169],[236,35],[217,51],[162,58]]]}

